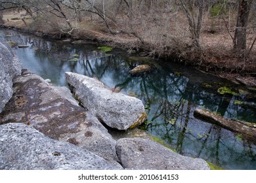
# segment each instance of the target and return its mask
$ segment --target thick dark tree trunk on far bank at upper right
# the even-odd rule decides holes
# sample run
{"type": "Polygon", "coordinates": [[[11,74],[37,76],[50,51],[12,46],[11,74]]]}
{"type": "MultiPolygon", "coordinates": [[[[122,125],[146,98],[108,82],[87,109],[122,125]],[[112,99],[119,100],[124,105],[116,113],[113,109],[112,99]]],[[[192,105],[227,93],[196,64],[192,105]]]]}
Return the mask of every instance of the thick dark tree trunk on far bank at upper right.
{"type": "Polygon", "coordinates": [[[246,51],[246,27],[251,3],[251,0],[239,0],[238,19],[234,33],[234,50],[238,51],[242,57],[245,56],[246,51]]]}

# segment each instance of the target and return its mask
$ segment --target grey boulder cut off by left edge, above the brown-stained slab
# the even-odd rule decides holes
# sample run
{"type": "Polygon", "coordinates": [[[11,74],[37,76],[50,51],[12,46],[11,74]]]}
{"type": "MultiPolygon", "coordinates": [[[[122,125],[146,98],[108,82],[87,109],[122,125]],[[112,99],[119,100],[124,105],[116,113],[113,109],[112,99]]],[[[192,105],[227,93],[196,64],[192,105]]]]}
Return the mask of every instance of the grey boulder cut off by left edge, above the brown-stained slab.
{"type": "Polygon", "coordinates": [[[10,46],[0,41],[0,112],[12,97],[12,79],[20,75],[22,63],[14,56],[10,46]]]}

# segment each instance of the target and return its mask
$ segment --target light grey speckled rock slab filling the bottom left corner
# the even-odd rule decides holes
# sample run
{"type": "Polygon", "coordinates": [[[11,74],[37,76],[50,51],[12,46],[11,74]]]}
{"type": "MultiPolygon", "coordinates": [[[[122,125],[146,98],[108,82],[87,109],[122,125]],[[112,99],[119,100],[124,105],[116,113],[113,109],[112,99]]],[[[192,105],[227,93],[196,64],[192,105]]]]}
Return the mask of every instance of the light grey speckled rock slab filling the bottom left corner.
{"type": "Polygon", "coordinates": [[[1,170],[118,169],[69,142],[53,140],[26,124],[0,125],[1,170]]]}

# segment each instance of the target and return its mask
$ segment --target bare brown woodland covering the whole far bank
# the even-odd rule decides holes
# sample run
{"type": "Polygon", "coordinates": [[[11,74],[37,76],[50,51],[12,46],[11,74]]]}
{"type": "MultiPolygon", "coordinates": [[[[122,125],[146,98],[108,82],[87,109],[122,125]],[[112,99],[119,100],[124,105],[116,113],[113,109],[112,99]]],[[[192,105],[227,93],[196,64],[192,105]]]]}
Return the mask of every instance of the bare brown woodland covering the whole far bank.
{"type": "Polygon", "coordinates": [[[175,58],[205,71],[256,73],[253,0],[3,0],[0,22],[175,58]],[[20,11],[24,16],[12,21],[20,11]]]}

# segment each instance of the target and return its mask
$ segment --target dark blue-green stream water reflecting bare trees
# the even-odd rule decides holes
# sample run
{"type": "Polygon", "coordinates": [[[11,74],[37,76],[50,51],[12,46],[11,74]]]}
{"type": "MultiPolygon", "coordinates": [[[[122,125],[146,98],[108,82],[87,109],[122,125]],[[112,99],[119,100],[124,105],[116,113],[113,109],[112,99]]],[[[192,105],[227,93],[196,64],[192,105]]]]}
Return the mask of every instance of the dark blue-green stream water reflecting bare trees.
{"type": "Polygon", "coordinates": [[[58,86],[66,85],[64,73],[72,71],[141,99],[148,114],[142,128],[179,154],[205,159],[223,169],[256,169],[255,144],[193,116],[195,108],[203,107],[226,118],[256,122],[256,92],[175,63],[128,57],[119,49],[104,54],[96,44],[62,44],[10,30],[0,30],[0,37],[29,45],[13,48],[24,68],[58,86]],[[129,75],[130,69],[142,63],[152,65],[154,71],[129,75]],[[219,94],[223,86],[238,94],[219,94]]]}

